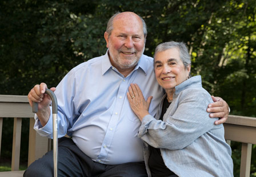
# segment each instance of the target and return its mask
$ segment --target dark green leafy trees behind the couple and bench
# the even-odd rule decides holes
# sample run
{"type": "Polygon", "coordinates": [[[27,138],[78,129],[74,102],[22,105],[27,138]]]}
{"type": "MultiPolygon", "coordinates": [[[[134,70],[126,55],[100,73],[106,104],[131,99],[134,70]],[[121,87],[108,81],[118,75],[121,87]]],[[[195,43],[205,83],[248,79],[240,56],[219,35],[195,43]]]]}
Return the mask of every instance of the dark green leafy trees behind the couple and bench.
{"type": "MultiPolygon", "coordinates": [[[[162,42],[187,43],[192,74],[202,75],[203,87],[225,99],[230,114],[256,117],[255,0],[2,0],[0,94],[27,95],[41,82],[57,86],[74,66],[105,54],[106,23],[117,11],[134,11],[145,19],[146,55],[153,56],[162,42]]],[[[4,121],[1,160],[10,158],[7,137],[13,131],[13,120],[4,121]]],[[[22,162],[27,160],[28,124],[23,121],[22,162]]],[[[241,144],[231,146],[239,176],[241,144]]],[[[256,176],[255,152],[253,145],[251,176],[256,176]]]]}

